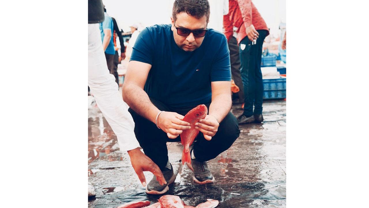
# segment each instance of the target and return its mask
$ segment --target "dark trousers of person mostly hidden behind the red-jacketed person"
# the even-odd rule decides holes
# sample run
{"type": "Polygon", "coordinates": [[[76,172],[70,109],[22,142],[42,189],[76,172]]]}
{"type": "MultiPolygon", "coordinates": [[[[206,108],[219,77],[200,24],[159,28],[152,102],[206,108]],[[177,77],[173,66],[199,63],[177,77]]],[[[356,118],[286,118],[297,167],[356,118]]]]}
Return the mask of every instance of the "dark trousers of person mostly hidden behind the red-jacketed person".
{"type": "Polygon", "coordinates": [[[239,47],[235,37],[231,37],[228,42],[228,48],[230,50],[232,80],[239,87],[239,103],[244,103],[244,84],[242,83],[241,72],[239,71],[239,68],[241,67],[241,63],[239,61],[239,47]]]}

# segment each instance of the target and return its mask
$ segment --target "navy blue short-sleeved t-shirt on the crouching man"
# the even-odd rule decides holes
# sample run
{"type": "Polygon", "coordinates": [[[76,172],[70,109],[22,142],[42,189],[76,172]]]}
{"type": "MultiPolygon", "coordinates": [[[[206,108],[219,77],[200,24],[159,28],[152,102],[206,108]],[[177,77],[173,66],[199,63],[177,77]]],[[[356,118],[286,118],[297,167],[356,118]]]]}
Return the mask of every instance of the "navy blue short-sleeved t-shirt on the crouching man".
{"type": "Polygon", "coordinates": [[[145,92],[173,108],[211,102],[211,82],[231,81],[231,64],[224,34],[209,29],[194,51],[174,41],[170,24],[146,27],[138,35],[130,61],[151,64],[145,92]]]}

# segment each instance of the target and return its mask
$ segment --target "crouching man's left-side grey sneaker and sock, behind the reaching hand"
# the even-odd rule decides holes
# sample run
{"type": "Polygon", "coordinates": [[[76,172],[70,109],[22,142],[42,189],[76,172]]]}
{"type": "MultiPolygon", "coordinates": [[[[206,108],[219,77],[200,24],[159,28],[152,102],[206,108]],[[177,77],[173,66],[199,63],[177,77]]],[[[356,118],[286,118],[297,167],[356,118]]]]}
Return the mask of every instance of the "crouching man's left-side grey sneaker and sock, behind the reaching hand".
{"type": "Polygon", "coordinates": [[[176,179],[176,176],[173,172],[172,164],[170,164],[170,167],[172,168],[172,170],[170,170],[169,168],[163,168],[163,170],[161,170],[164,175],[166,184],[160,185],[159,182],[156,180],[156,176],[154,175],[154,177],[146,186],[147,194],[164,194],[169,190],[168,185],[172,184],[176,179]]]}

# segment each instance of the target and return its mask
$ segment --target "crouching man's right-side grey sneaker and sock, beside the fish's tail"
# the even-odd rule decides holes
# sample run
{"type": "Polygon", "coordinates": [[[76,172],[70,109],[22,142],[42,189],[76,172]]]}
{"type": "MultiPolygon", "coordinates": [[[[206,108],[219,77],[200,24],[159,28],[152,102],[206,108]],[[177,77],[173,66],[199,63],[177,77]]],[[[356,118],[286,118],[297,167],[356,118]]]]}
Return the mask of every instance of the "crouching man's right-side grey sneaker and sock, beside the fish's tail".
{"type": "Polygon", "coordinates": [[[196,159],[191,158],[191,165],[188,166],[193,171],[193,181],[195,181],[196,183],[210,184],[215,181],[213,174],[211,174],[209,168],[207,167],[206,161],[200,162],[196,159]]]}

